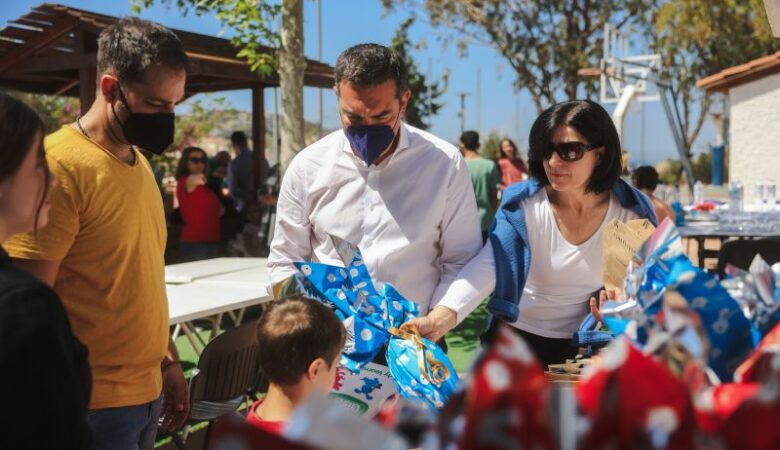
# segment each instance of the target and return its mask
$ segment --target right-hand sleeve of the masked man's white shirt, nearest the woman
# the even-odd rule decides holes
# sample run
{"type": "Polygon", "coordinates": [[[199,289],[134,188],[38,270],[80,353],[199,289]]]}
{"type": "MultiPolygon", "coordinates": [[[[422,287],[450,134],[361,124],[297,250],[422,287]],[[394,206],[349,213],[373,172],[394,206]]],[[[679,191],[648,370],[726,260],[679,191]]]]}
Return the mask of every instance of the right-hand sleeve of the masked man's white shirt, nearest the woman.
{"type": "Polygon", "coordinates": [[[431,308],[439,304],[460,270],[482,246],[479,212],[471,177],[460,155],[456,156],[453,164],[455,173],[448,186],[439,237],[441,276],[433,291],[431,308]]]}

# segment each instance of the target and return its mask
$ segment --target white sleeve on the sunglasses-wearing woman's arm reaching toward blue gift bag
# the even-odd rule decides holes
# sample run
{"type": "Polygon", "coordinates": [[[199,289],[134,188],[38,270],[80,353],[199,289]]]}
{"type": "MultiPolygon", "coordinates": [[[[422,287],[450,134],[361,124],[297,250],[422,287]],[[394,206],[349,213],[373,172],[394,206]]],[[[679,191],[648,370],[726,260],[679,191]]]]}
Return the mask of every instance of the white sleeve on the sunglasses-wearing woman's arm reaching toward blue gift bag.
{"type": "Polygon", "coordinates": [[[496,263],[488,242],[460,271],[438,304],[455,311],[460,323],[493,292],[495,285],[496,263]]]}

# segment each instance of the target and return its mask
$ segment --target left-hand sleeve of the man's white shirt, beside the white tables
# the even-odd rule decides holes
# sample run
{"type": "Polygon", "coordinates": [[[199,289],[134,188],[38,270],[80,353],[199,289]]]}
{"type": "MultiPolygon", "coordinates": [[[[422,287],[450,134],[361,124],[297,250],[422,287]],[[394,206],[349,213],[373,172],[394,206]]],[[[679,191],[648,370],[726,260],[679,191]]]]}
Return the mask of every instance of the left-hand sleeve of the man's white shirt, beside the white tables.
{"type": "Polygon", "coordinates": [[[294,262],[310,261],[312,256],[311,223],[306,211],[306,175],[293,160],[282,179],[276,204],[276,228],[268,255],[271,283],[294,275],[294,262]]]}

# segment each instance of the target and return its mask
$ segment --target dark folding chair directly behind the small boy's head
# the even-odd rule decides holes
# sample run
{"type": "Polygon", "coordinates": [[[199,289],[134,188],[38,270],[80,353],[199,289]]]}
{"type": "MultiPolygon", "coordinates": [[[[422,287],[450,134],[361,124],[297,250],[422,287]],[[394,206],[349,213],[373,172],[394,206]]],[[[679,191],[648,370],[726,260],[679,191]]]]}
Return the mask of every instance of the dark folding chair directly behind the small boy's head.
{"type": "MultiPolygon", "coordinates": [[[[252,321],[217,335],[203,349],[190,379],[190,422],[209,422],[235,412],[259,383],[257,323],[252,321]]],[[[172,435],[177,448],[183,440],[172,435]]]]}

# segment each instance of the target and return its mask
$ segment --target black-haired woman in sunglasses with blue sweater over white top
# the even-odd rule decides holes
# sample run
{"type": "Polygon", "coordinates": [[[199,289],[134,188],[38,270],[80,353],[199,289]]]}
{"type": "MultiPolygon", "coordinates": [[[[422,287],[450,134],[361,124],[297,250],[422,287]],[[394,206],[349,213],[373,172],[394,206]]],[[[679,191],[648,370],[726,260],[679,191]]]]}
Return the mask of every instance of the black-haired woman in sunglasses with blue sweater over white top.
{"type": "Polygon", "coordinates": [[[417,319],[420,332],[439,339],[493,292],[489,330],[508,323],[545,367],[574,357],[572,335],[603,286],[606,224],[656,223],[647,197],[620,178],[620,150],[612,119],[597,103],[575,100],[544,111],[529,137],[531,178],[504,191],[490,243],[442,296],[438,305],[450,317],[417,319]]]}

